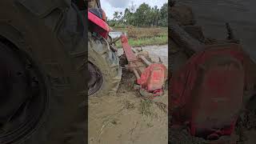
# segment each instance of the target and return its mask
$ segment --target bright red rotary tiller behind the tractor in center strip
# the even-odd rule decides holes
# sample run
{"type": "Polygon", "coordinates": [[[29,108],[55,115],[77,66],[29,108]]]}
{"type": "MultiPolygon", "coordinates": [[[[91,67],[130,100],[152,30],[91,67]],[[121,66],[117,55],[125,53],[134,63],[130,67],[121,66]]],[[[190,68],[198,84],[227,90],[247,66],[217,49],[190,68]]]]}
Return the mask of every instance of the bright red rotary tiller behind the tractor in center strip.
{"type": "Polygon", "coordinates": [[[163,93],[163,85],[167,79],[167,69],[162,63],[151,63],[146,60],[147,54],[135,54],[125,34],[121,36],[122,47],[128,60],[127,68],[137,77],[137,83],[142,90],[154,96],[163,93]]]}

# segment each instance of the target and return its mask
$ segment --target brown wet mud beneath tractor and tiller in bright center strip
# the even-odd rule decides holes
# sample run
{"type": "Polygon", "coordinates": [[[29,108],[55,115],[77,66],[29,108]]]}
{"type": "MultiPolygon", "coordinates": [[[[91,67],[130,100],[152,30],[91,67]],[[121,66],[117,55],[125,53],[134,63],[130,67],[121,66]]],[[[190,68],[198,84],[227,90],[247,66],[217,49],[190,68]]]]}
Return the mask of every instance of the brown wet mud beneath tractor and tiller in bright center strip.
{"type": "Polygon", "coordinates": [[[168,142],[168,90],[161,97],[146,100],[134,90],[134,80],[134,74],[123,69],[116,96],[89,98],[90,144],[168,142]]]}

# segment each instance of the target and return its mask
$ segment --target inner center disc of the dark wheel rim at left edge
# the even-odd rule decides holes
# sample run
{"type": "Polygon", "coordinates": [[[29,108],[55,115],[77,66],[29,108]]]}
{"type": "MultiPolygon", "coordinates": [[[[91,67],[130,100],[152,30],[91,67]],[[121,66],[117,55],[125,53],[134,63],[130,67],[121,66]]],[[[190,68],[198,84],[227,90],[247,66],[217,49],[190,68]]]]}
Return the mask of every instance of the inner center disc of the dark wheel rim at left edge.
{"type": "Polygon", "coordinates": [[[0,53],[0,123],[4,123],[14,116],[29,94],[22,64],[15,61],[12,53],[6,50],[0,53]]]}

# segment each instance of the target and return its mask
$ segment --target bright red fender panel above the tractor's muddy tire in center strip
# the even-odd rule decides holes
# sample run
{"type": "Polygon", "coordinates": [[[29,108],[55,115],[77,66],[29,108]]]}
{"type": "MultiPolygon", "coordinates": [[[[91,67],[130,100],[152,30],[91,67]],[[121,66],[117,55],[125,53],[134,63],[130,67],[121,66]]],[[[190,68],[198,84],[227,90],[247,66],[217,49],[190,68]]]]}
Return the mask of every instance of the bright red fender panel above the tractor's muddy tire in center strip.
{"type": "Polygon", "coordinates": [[[108,24],[105,21],[103,21],[101,18],[98,18],[95,14],[91,13],[89,10],[88,10],[88,20],[90,22],[93,22],[99,28],[101,28],[101,29],[98,29],[98,27],[95,28],[94,30],[95,32],[97,32],[98,34],[101,34],[103,38],[107,38],[107,35],[110,32],[110,26],[108,26],[108,24]]]}

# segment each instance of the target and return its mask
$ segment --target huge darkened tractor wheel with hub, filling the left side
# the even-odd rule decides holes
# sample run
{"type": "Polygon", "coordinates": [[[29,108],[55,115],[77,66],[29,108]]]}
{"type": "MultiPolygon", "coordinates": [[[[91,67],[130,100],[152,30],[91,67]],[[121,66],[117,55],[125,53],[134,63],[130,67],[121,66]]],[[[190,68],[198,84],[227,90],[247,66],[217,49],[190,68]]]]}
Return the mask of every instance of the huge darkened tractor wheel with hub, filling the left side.
{"type": "Polygon", "coordinates": [[[1,109],[0,115],[8,115],[0,122],[0,143],[86,143],[87,43],[81,14],[68,0],[2,0],[0,7],[1,71],[10,67],[3,72],[10,78],[0,76],[9,81],[0,86],[16,87],[0,94],[0,107],[4,98],[14,97],[6,101],[7,110],[1,109]],[[24,102],[15,105],[21,96],[24,102]],[[14,115],[8,109],[15,109],[14,115]]]}

